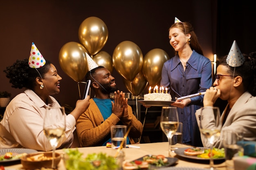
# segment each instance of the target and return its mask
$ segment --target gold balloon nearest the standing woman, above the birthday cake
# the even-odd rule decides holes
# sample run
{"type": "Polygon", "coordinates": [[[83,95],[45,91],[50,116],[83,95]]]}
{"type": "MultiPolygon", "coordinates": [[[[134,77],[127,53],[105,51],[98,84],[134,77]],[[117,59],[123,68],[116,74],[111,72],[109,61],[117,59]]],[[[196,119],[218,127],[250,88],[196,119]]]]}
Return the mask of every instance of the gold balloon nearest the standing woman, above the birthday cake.
{"type": "Polygon", "coordinates": [[[162,49],[153,49],[146,53],[142,70],[150,86],[160,84],[162,68],[168,59],[169,55],[162,49]]]}

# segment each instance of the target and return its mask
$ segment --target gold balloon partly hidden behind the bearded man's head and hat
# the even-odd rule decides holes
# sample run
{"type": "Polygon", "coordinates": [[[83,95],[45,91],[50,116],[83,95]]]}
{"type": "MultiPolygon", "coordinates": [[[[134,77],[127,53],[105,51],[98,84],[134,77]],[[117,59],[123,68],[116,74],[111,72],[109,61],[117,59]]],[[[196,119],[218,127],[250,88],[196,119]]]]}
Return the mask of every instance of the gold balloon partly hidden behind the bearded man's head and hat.
{"type": "Polygon", "coordinates": [[[97,53],[96,55],[94,55],[92,57],[92,60],[94,60],[94,62],[96,62],[98,64],[98,66],[103,66],[103,67],[107,68],[108,71],[110,71],[110,73],[112,73],[113,60],[112,60],[112,56],[109,55],[107,52],[100,51],[99,53],[97,53]]]}

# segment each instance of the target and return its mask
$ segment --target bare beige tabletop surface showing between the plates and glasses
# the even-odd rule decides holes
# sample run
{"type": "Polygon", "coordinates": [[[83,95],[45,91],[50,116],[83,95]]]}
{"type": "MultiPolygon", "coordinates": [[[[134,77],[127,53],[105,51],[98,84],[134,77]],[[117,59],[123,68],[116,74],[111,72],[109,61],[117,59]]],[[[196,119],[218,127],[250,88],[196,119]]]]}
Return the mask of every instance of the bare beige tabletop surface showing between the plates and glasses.
{"type": "MultiPolygon", "coordinates": [[[[164,155],[169,157],[168,153],[168,142],[156,142],[156,143],[146,143],[146,144],[134,144],[130,146],[136,146],[135,148],[122,148],[124,152],[125,161],[133,161],[144,157],[145,155],[164,155]]],[[[185,144],[180,144],[180,148],[190,147],[185,144]]],[[[108,148],[106,146],[95,146],[95,147],[82,147],[82,148],[70,148],[78,149],[79,152],[83,153],[83,157],[86,157],[88,154],[92,153],[106,153],[107,155],[114,156],[117,152],[117,149],[108,148]]],[[[56,152],[64,154],[65,149],[56,150],[56,152]]],[[[177,161],[172,164],[172,167],[193,167],[193,168],[209,168],[209,160],[198,160],[198,159],[189,159],[177,155],[175,152],[171,152],[171,157],[177,158],[177,161]]],[[[214,160],[214,166],[218,170],[226,170],[225,159],[214,160]]],[[[22,164],[20,162],[10,163],[4,165],[5,170],[23,170],[22,164]]],[[[58,164],[58,170],[66,170],[65,162],[61,159],[58,164]]]]}

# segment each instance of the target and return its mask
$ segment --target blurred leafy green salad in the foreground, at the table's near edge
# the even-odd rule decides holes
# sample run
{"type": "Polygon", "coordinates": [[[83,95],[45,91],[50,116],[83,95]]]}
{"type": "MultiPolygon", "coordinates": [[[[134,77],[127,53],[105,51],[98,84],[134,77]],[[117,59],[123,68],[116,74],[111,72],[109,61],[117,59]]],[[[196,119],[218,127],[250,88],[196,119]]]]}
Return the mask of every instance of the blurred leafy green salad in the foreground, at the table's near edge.
{"type": "Polygon", "coordinates": [[[119,168],[116,159],[105,153],[92,153],[85,158],[78,149],[66,149],[65,153],[67,170],[116,170],[119,168]]]}

